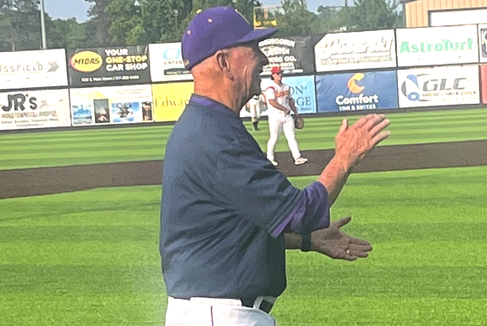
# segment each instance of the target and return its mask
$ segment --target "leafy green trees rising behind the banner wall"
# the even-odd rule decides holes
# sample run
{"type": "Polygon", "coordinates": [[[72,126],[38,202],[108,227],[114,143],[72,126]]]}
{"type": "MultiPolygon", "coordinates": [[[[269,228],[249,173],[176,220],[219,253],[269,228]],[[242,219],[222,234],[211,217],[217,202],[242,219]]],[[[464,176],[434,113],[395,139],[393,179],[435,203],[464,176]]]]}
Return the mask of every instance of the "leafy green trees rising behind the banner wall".
{"type": "MultiPolygon", "coordinates": [[[[189,20],[215,5],[238,9],[249,22],[259,0],[85,0],[89,20],[53,19],[46,14],[49,48],[82,48],[180,41],[189,20]]],[[[399,0],[354,0],[347,7],[307,10],[305,0],[281,0],[279,36],[402,27],[399,0]]],[[[41,48],[39,0],[0,0],[0,51],[41,48]]]]}

